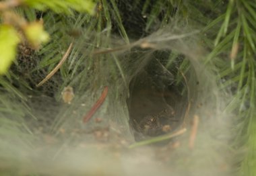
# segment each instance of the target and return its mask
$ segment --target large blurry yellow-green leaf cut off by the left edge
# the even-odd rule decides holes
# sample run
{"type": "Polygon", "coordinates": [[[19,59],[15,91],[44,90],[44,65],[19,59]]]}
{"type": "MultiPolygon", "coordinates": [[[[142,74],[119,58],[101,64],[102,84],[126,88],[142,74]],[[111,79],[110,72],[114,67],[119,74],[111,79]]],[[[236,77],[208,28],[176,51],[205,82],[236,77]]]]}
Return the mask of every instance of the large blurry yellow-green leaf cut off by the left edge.
{"type": "Polygon", "coordinates": [[[19,34],[12,26],[0,26],[0,75],[5,74],[11,66],[19,42],[19,34]]]}

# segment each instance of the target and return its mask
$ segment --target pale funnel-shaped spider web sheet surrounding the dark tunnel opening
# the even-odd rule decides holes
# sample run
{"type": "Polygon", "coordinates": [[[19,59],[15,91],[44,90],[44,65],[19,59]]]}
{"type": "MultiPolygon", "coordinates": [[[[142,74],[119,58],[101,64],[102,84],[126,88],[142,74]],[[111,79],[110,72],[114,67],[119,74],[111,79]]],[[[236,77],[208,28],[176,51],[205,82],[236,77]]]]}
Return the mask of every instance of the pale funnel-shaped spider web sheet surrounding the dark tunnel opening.
{"type": "Polygon", "coordinates": [[[18,167],[24,174],[187,175],[193,170],[193,175],[224,175],[228,171],[227,142],[232,137],[229,118],[222,109],[228,94],[216,87],[194,41],[193,32],[166,28],[135,44],[124,44],[116,52],[88,54],[79,65],[73,61],[79,46],[74,46],[65,67],[71,68],[67,74],[75,76],[63,81],[55,75],[26,95],[34,118],[26,117],[19,125],[26,125],[28,131],[23,130],[19,137],[8,136],[9,142],[1,145],[9,147],[10,153],[1,154],[9,161],[7,167],[18,167]],[[189,66],[180,69],[181,64],[189,66]],[[73,87],[70,103],[62,99],[65,86],[73,87]],[[84,116],[104,87],[108,87],[106,99],[84,124],[84,116]],[[163,110],[166,114],[161,115],[163,110]],[[147,124],[147,116],[158,122],[151,118],[152,124],[147,124]],[[189,148],[195,116],[199,126],[195,144],[189,148]],[[187,131],[176,138],[154,143],[155,138],[184,128],[187,131]],[[20,144],[22,138],[30,145],[20,144]],[[129,149],[144,140],[152,140],[152,144],[129,149]],[[13,152],[22,165],[12,161],[13,152]]]}

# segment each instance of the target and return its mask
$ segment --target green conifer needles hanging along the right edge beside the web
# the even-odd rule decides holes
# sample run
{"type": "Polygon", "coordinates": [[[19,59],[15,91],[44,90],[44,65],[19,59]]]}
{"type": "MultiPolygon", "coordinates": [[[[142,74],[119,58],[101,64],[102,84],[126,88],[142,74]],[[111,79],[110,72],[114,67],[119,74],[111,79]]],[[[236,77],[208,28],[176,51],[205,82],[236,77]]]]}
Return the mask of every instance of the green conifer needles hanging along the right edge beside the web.
{"type": "Polygon", "coordinates": [[[207,62],[214,62],[218,65],[220,79],[225,80],[222,89],[230,89],[230,87],[233,89],[234,97],[226,110],[238,114],[239,125],[243,124],[243,127],[239,130],[235,141],[239,147],[248,149],[247,155],[239,167],[240,174],[255,175],[256,157],[252,155],[252,152],[256,150],[255,3],[253,1],[230,0],[223,15],[212,20],[205,27],[205,31],[208,31],[208,34],[210,32],[214,34],[214,31],[210,29],[215,26],[218,26],[219,30],[214,39],[215,47],[209,54],[207,62]],[[218,62],[222,62],[222,64],[218,64],[218,62]],[[247,138],[245,144],[238,142],[242,138],[247,138]]]}

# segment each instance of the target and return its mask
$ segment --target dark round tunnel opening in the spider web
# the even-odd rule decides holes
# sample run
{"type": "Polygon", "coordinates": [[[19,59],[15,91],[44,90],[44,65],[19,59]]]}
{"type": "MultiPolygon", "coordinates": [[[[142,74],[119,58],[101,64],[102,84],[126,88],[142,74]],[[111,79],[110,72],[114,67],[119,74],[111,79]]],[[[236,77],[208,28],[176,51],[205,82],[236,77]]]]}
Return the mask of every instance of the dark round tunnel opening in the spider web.
{"type": "MultiPolygon", "coordinates": [[[[158,56],[164,56],[158,53],[158,56]],[[160,54],[160,55],[159,55],[160,54]]],[[[135,140],[167,134],[183,122],[187,98],[164,60],[153,58],[129,84],[129,124],[135,140]]]]}

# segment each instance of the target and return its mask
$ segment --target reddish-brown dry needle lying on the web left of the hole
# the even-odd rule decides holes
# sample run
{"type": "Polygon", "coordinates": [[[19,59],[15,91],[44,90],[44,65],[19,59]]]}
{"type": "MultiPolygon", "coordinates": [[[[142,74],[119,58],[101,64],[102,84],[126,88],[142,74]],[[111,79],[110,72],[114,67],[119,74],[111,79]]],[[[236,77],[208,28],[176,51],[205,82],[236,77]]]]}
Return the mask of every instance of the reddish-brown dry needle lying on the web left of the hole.
{"type": "Polygon", "coordinates": [[[100,107],[100,105],[102,105],[102,103],[106,99],[107,94],[108,94],[108,87],[104,87],[104,90],[102,91],[102,94],[100,95],[100,98],[98,99],[98,101],[94,104],[94,106],[92,106],[92,108],[90,109],[88,114],[86,114],[86,116],[84,116],[84,120],[83,120],[84,124],[86,124],[86,122],[88,122],[88,120],[90,120],[90,118],[92,118],[92,116],[95,114],[95,112],[100,107]]]}

